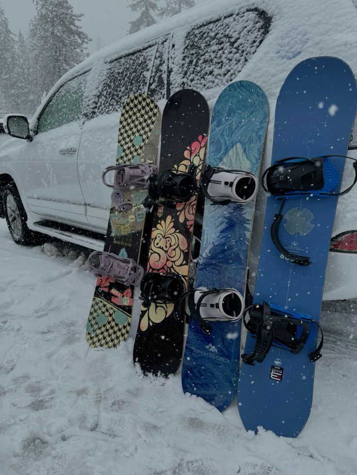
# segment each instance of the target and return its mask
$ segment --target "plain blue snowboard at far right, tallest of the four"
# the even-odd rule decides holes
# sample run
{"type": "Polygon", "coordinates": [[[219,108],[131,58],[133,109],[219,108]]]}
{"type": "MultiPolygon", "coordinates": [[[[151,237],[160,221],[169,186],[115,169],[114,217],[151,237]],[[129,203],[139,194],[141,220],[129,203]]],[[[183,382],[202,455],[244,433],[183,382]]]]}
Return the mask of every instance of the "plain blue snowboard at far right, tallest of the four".
{"type": "MultiPolygon", "coordinates": [[[[277,99],[272,163],[292,156],[345,155],[356,103],[355,78],[345,62],[332,57],[300,62],[286,78],[277,99]]],[[[340,190],[344,162],[343,158],[326,159],[325,170],[335,174],[326,177],[335,180],[334,193],[340,190]]],[[[300,196],[286,200],[279,238],[289,251],[310,257],[311,264],[301,266],[287,260],[272,242],[270,227],[281,203],[268,196],[255,304],[266,301],[285,312],[320,320],[337,199],[300,196]]],[[[248,333],[244,353],[250,354],[255,343],[256,338],[248,333]]],[[[312,324],[300,353],[292,354],[273,343],[261,363],[251,366],[242,362],[238,407],[247,430],[257,431],[262,426],[286,437],[301,432],[310,414],[315,364],[319,364],[310,362],[308,353],[316,346],[317,329],[312,324]]]]}

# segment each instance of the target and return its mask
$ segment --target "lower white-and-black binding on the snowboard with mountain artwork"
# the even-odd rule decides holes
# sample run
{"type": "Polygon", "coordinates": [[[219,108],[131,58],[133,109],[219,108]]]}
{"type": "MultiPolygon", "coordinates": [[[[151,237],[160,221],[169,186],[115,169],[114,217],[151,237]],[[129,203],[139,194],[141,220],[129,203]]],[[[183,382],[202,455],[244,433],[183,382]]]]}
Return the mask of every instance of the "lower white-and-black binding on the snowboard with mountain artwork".
{"type": "Polygon", "coordinates": [[[195,318],[206,335],[212,327],[209,322],[237,322],[244,313],[243,296],[235,289],[212,289],[210,291],[189,291],[182,295],[188,297],[189,318],[195,318]]]}

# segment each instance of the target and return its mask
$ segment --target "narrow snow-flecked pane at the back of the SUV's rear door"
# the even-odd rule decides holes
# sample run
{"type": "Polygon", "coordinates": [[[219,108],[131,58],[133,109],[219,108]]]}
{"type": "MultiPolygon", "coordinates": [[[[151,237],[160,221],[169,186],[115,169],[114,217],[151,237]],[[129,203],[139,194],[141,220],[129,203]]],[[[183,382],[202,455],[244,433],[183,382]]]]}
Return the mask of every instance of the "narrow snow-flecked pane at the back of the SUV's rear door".
{"type": "Polygon", "coordinates": [[[160,99],[168,99],[170,96],[167,84],[169,46],[170,42],[167,37],[159,42],[152,67],[147,93],[157,101],[160,101],[160,99]]]}

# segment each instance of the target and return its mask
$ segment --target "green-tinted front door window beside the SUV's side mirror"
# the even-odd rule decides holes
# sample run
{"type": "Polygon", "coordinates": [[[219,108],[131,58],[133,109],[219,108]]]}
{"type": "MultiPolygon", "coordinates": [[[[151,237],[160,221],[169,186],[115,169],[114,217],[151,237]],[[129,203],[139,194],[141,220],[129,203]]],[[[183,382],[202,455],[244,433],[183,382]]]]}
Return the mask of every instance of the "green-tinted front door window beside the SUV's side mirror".
{"type": "Polygon", "coordinates": [[[66,82],[47,103],[38,119],[37,133],[81,119],[87,73],[66,82]]]}

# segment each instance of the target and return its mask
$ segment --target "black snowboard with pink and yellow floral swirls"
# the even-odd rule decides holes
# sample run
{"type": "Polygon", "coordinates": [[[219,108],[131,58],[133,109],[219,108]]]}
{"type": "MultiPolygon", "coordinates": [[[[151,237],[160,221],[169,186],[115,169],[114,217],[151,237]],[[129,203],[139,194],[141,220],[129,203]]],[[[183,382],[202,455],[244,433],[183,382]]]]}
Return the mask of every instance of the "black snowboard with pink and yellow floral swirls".
{"type": "MultiPolygon", "coordinates": [[[[162,115],[159,178],[166,170],[187,172],[194,164],[198,183],[208,129],[209,108],[204,97],[191,89],[173,94],[162,115]]],[[[196,208],[196,193],[175,208],[154,208],[147,273],[178,274],[187,288],[196,208]]],[[[142,305],[134,363],[139,363],[144,373],[175,373],[183,352],[184,325],[184,317],[173,303],[142,305]]]]}

